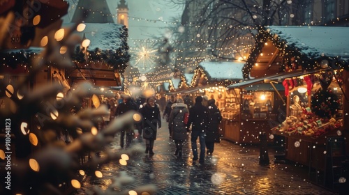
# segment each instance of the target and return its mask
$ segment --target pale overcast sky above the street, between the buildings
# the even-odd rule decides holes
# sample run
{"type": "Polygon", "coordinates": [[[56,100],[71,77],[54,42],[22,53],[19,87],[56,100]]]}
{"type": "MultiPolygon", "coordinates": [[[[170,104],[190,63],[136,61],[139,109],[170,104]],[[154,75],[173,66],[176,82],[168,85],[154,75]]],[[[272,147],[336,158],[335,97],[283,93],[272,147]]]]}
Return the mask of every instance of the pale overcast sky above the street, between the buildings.
{"type": "MultiPolygon", "coordinates": [[[[84,1],[84,0],[80,0],[84,1]]],[[[101,0],[94,0],[96,2],[101,0]]],[[[117,4],[120,0],[106,0],[110,8],[110,12],[114,15],[114,22],[116,22],[117,4]]],[[[70,0],[70,8],[68,15],[64,16],[64,23],[69,23],[70,19],[74,15],[77,0],[70,0]]],[[[168,33],[166,27],[169,26],[169,22],[173,22],[172,18],[175,17],[180,22],[181,14],[183,13],[184,6],[171,5],[168,1],[164,0],[126,0],[128,5],[128,45],[130,46],[129,53],[131,54],[131,65],[138,65],[138,67],[151,67],[154,65],[154,40],[155,37],[167,37],[169,38],[171,33],[168,33]],[[149,40],[147,40],[149,39],[149,40]],[[144,41],[147,40],[147,43],[144,41]],[[148,51],[153,51],[151,61],[149,58],[142,58],[138,61],[139,52],[142,48],[147,48],[148,51]],[[135,61],[138,61],[136,63],[135,61]]],[[[172,24],[173,25],[173,24],[172,24]]],[[[140,71],[147,71],[145,68],[140,68],[140,71]]]]}

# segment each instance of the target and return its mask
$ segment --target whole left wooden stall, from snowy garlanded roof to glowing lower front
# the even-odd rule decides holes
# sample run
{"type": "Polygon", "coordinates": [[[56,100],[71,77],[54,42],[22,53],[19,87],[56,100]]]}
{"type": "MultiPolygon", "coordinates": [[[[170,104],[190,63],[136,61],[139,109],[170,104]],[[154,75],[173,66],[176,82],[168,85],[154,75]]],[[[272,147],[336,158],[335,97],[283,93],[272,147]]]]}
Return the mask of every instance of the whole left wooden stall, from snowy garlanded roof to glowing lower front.
{"type": "MultiPolygon", "coordinates": [[[[123,74],[130,58],[128,29],[124,25],[110,23],[80,25],[84,28],[75,32],[75,35],[82,38],[82,44],[75,47],[73,67],[66,68],[68,82],[75,89],[75,86],[87,81],[101,91],[101,95],[84,97],[84,107],[98,107],[101,102],[105,102],[108,107],[114,108],[114,98],[120,99],[121,94],[126,93],[123,74]],[[110,101],[110,98],[113,99],[110,101]]],[[[109,118],[110,116],[106,116],[98,123],[98,130],[109,118]]]]}

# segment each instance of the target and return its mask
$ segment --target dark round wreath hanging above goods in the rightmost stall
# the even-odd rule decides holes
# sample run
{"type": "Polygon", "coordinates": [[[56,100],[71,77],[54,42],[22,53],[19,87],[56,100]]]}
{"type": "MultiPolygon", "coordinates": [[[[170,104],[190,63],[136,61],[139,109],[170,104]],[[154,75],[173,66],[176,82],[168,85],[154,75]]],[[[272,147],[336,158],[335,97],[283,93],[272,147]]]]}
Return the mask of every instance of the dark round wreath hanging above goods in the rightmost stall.
{"type": "Polygon", "coordinates": [[[339,109],[339,99],[331,89],[315,91],[311,97],[311,110],[320,118],[331,118],[339,109]]]}

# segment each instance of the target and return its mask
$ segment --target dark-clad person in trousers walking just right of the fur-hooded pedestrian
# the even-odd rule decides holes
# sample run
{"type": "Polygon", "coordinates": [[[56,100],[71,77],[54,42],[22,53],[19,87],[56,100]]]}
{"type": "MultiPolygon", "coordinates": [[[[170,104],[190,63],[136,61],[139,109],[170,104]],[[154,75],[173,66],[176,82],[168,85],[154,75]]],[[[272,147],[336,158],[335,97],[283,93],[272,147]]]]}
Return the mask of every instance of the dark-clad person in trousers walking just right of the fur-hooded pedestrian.
{"type": "Polygon", "coordinates": [[[195,98],[195,104],[189,110],[188,124],[186,127],[191,131],[191,150],[193,150],[193,161],[198,160],[198,146],[196,141],[200,140],[200,163],[205,162],[205,133],[207,130],[207,121],[209,120],[209,109],[202,105],[202,97],[195,98]],[[190,130],[190,127],[192,128],[190,130]]]}

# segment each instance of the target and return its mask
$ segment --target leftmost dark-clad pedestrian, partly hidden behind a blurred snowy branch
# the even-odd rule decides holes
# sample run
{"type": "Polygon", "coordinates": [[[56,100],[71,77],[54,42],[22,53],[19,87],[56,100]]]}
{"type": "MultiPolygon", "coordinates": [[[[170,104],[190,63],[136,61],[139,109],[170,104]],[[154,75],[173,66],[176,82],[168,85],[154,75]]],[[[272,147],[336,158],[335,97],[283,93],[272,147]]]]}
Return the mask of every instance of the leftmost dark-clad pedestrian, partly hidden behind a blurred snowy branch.
{"type": "MultiPolygon", "coordinates": [[[[129,95],[122,95],[123,102],[117,105],[117,110],[115,111],[115,116],[121,116],[121,114],[126,113],[127,111],[138,111],[138,108],[132,102],[131,97],[129,95]]],[[[121,130],[120,134],[120,147],[124,148],[124,139],[126,135],[126,146],[125,149],[131,145],[131,141],[133,139],[133,130],[121,130]]]]}

